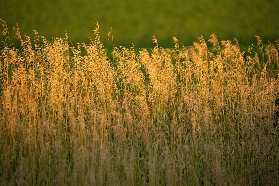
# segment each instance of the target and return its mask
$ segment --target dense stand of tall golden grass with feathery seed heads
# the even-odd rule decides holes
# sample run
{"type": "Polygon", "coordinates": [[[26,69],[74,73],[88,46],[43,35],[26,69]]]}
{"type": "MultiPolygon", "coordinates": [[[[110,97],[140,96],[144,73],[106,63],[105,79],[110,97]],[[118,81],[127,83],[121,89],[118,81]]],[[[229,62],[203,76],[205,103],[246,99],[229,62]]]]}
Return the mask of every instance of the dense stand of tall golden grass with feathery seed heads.
{"type": "Polygon", "coordinates": [[[279,41],[244,57],[215,35],[212,52],[154,37],[109,59],[98,27],[77,47],[15,31],[21,50],[0,53],[0,184],[279,184],[279,41]]]}

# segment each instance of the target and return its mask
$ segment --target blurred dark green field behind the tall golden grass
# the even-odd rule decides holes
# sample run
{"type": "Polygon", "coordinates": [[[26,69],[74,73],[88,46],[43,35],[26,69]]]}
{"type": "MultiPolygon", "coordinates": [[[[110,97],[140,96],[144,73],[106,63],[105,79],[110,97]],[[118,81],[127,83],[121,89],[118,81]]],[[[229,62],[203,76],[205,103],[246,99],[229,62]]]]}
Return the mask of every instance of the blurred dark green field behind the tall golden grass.
{"type": "MultiPolygon", "coordinates": [[[[219,41],[235,37],[240,45],[246,46],[256,44],[255,35],[264,42],[279,38],[278,0],[1,0],[0,7],[0,19],[8,24],[16,46],[18,42],[11,29],[16,23],[21,35],[30,35],[31,39],[32,30],[48,40],[64,38],[66,31],[73,43],[88,43],[88,37],[94,37],[91,31],[96,20],[107,48],[112,45],[107,40],[109,26],[115,46],[131,47],[133,42],[135,48],[153,47],[153,35],[161,47],[173,47],[172,37],[191,45],[201,34],[208,40],[212,33],[219,41]]],[[[0,39],[4,41],[4,36],[0,39]]]]}

